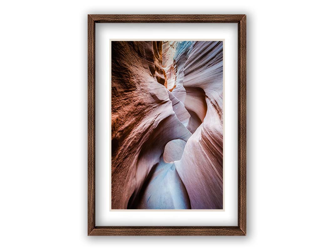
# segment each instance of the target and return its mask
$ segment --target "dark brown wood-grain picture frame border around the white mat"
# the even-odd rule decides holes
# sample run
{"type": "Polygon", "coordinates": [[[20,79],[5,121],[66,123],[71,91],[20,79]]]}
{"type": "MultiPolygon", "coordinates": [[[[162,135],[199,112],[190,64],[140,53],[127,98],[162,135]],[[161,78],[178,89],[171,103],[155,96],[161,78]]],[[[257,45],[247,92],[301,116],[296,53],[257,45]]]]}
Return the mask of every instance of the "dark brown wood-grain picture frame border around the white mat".
{"type": "Polygon", "coordinates": [[[246,235],[246,15],[88,15],[88,235],[246,235]],[[238,24],[238,225],[95,225],[95,23],[238,24]]]}

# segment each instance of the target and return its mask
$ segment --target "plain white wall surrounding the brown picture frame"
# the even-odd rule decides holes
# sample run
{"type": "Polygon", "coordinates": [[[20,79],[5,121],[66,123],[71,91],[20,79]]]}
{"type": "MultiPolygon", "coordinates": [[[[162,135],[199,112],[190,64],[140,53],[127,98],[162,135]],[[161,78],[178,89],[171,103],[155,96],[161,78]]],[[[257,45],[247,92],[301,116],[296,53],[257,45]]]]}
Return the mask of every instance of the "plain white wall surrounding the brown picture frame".
{"type": "Polygon", "coordinates": [[[333,248],[326,2],[3,1],[1,247],[333,248]],[[246,237],[87,236],[88,13],[247,14],[246,237]]]}

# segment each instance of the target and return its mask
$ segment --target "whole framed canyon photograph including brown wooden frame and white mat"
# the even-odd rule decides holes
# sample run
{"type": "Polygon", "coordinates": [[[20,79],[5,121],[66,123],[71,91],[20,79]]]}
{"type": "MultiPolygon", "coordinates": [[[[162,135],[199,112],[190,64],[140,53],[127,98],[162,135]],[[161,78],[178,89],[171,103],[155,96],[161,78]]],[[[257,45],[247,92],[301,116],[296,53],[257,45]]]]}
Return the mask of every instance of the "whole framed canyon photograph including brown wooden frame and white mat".
{"type": "Polygon", "coordinates": [[[246,15],[88,15],[88,235],[246,235],[246,15]]]}

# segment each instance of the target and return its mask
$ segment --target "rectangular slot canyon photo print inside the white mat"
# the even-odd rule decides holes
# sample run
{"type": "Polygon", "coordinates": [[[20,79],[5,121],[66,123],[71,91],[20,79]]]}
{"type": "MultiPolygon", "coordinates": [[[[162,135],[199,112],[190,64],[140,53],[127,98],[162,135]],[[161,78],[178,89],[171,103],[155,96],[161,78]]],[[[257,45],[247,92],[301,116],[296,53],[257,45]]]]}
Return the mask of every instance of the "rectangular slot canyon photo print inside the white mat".
{"type": "Polygon", "coordinates": [[[222,209],[222,42],[112,42],[112,209],[222,209]]]}

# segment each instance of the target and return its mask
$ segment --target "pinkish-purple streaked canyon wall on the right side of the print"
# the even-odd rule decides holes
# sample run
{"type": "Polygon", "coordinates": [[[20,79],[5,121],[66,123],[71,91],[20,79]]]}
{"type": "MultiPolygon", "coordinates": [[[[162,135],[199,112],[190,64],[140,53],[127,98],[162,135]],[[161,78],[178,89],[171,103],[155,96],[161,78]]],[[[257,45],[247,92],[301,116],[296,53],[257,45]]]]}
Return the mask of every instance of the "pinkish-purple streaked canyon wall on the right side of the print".
{"type": "Polygon", "coordinates": [[[221,209],[223,204],[222,59],[222,42],[197,41],[183,69],[185,107],[193,121],[188,128],[193,134],[175,166],[192,209],[221,209]]]}

